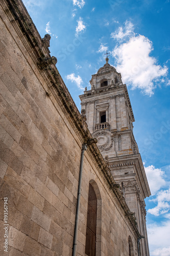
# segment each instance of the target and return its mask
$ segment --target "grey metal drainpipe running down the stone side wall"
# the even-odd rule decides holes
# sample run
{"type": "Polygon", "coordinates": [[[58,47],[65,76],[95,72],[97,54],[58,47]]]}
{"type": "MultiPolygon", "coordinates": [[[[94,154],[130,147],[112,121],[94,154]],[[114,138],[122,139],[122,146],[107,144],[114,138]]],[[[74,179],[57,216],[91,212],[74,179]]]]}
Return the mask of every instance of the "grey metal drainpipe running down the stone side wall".
{"type": "Polygon", "coordinates": [[[81,198],[81,190],[82,190],[83,158],[84,158],[85,150],[87,150],[87,144],[82,144],[79,186],[78,186],[78,198],[77,198],[77,208],[76,208],[76,222],[75,222],[75,233],[74,233],[72,256],[76,256],[76,251],[77,251],[77,235],[78,235],[79,214],[80,214],[80,198],[81,198]]]}

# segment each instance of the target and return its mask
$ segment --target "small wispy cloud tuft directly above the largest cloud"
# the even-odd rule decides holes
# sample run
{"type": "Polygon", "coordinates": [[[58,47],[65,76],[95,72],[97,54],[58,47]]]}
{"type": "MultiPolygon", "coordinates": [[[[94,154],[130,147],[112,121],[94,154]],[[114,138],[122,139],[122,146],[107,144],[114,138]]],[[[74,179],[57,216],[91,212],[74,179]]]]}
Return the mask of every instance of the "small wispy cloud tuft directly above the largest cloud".
{"type": "Polygon", "coordinates": [[[116,40],[123,40],[127,37],[134,36],[134,25],[131,22],[126,21],[125,27],[119,27],[115,32],[111,33],[111,37],[116,40]]]}

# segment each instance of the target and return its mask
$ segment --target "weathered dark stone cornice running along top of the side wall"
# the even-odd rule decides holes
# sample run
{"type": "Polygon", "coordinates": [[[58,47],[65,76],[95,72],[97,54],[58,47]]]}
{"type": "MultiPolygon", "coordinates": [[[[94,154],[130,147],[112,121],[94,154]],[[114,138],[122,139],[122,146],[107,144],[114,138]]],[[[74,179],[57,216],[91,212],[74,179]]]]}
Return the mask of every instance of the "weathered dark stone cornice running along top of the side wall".
{"type": "MultiPolygon", "coordinates": [[[[54,96],[55,100],[60,104],[64,113],[65,111],[67,112],[70,117],[70,121],[79,131],[78,136],[82,143],[84,143],[84,141],[87,141],[87,139],[93,139],[87,129],[87,124],[84,124],[81,114],[79,113],[74,100],[71,98],[68,89],[66,88],[57,68],[55,67],[55,60],[53,59],[54,62],[51,63],[51,69],[42,69],[39,67],[38,63],[40,59],[42,60],[52,57],[50,55],[47,44],[42,44],[42,38],[36,30],[36,27],[33,24],[32,19],[23,3],[20,0],[4,0],[3,7],[9,19],[11,20],[13,17],[12,26],[14,27],[16,33],[19,33],[19,29],[21,30],[23,36],[19,36],[20,40],[23,41],[24,45],[26,41],[29,42],[30,45],[26,45],[26,49],[31,55],[41,76],[46,81],[46,84],[48,84],[49,91],[54,96]],[[10,10],[10,13],[7,13],[7,9],[10,10]]],[[[49,94],[49,96],[51,94],[49,94]]],[[[138,237],[139,232],[136,227],[136,221],[132,216],[127,215],[127,213],[130,211],[129,207],[127,206],[121,192],[117,188],[117,184],[115,183],[111,175],[110,169],[105,163],[105,160],[103,159],[99,148],[96,145],[92,144],[88,146],[87,152],[89,155],[91,155],[91,158],[95,160],[95,165],[98,168],[99,173],[103,174],[102,176],[107,185],[111,188],[112,194],[114,195],[116,202],[118,203],[120,208],[122,208],[124,216],[128,218],[132,229],[135,231],[136,236],[138,237]]]]}

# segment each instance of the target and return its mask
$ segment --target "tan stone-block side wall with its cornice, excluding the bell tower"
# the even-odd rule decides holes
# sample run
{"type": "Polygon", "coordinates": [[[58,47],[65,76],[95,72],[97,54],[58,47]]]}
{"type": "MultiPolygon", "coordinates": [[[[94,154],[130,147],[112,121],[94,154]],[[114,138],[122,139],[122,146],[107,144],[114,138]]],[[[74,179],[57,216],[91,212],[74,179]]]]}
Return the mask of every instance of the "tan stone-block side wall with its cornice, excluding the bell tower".
{"type": "Polygon", "coordinates": [[[88,143],[85,114],[50,55],[50,36],[40,37],[20,0],[1,1],[0,29],[1,234],[5,198],[9,224],[8,252],[1,235],[1,255],[72,255],[84,143],[76,255],[85,255],[89,183],[97,198],[96,255],[129,256],[130,247],[137,255],[143,233],[111,175],[116,168],[88,143]]]}

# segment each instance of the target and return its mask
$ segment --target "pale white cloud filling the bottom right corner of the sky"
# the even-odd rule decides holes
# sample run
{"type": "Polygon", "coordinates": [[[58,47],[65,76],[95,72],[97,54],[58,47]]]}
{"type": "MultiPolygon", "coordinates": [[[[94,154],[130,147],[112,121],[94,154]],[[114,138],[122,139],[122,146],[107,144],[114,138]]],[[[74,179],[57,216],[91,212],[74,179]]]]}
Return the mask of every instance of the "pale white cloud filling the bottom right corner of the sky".
{"type": "Polygon", "coordinates": [[[169,256],[170,220],[159,224],[148,225],[150,254],[153,256],[169,256]]]}

